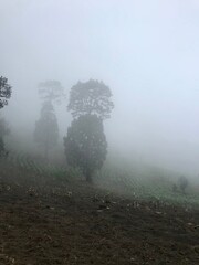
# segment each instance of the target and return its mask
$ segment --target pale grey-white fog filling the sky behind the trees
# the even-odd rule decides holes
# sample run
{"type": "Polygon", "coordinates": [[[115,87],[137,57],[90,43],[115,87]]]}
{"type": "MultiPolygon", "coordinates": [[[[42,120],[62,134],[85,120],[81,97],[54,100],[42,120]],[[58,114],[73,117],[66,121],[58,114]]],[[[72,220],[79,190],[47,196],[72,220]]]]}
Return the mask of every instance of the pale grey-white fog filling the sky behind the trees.
{"type": "Polygon", "coordinates": [[[115,104],[105,121],[109,152],[197,176],[198,29],[197,0],[0,0],[0,75],[13,87],[1,115],[12,135],[32,139],[38,84],[60,81],[62,141],[71,87],[103,81],[115,104]]]}

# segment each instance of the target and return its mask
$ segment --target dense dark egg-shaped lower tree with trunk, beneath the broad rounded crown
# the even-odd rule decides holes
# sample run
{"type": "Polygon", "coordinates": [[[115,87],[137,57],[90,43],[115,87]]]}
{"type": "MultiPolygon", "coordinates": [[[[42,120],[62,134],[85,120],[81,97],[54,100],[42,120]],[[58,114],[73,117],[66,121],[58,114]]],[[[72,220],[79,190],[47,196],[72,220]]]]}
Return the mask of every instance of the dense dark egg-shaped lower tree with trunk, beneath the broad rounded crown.
{"type": "Polygon", "coordinates": [[[69,165],[81,168],[86,181],[91,182],[92,174],[102,168],[107,153],[102,119],[91,114],[74,119],[64,137],[64,146],[69,165]]]}

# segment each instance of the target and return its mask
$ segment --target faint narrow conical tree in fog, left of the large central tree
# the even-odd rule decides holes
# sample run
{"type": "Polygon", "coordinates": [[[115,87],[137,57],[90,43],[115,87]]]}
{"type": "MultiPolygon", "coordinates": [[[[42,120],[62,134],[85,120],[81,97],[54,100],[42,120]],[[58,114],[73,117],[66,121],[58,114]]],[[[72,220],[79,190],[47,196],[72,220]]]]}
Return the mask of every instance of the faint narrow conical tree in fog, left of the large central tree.
{"type": "Polygon", "coordinates": [[[45,159],[49,158],[49,150],[57,144],[57,139],[59,126],[53,105],[51,102],[44,102],[41,117],[35,123],[34,140],[44,149],[45,159]]]}

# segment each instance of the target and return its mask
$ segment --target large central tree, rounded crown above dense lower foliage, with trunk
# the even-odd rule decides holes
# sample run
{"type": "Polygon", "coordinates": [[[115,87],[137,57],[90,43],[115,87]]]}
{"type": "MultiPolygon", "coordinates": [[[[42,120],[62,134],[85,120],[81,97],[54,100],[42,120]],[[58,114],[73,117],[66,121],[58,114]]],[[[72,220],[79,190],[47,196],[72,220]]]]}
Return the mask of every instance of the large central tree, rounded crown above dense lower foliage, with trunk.
{"type": "Polygon", "coordinates": [[[64,138],[65,155],[69,165],[81,168],[88,182],[106,159],[103,119],[109,117],[114,107],[111,96],[104,83],[93,80],[71,88],[67,109],[74,120],[64,138]]]}

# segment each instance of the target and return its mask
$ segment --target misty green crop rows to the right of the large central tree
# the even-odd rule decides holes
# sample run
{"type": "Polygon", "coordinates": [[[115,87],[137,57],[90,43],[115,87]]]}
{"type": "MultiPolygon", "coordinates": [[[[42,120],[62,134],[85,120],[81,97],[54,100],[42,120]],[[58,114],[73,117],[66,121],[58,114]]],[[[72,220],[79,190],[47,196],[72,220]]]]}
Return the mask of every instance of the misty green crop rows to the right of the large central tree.
{"type": "Polygon", "coordinates": [[[123,167],[121,163],[106,163],[96,176],[96,182],[107,189],[125,193],[138,199],[156,200],[166,204],[195,205],[199,206],[199,191],[195,189],[196,183],[189,181],[189,187],[184,194],[178,188],[172,191],[177,183],[179,173],[143,166],[123,167]]]}

